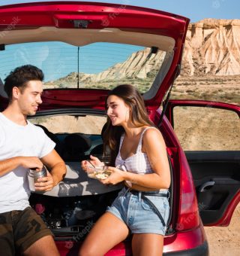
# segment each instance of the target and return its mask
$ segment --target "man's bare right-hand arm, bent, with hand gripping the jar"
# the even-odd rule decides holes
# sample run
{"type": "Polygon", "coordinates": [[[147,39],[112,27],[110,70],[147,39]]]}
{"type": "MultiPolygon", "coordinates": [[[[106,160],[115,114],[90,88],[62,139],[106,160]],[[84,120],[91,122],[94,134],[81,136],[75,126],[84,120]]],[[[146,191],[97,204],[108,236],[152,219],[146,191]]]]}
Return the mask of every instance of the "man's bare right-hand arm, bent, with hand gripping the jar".
{"type": "Polygon", "coordinates": [[[54,149],[40,160],[49,169],[50,173],[47,177],[38,178],[35,188],[44,191],[52,190],[52,187],[55,187],[65,177],[67,172],[65,162],[54,149]]]}

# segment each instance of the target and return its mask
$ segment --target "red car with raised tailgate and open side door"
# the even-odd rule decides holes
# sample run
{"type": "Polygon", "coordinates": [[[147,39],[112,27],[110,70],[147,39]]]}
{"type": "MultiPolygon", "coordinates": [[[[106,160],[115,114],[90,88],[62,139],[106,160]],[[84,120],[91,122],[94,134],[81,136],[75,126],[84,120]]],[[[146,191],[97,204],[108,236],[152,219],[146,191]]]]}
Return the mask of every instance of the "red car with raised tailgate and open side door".
{"type": "MultiPolygon", "coordinates": [[[[181,69],[188,23],[175,14],[127,5],[39,2],[0,7],[0,110],[7,105],[3,81],[11,70],[24,64],[42,69],[43,104],[29,120],[56,142],[55,149],[68,166],[64,181],[30,198],[55,234],[61,255],[77,255],[86,234],[121,188],[104,186],[80,167],[89,154],[102,157],[104,99],[117,84],[133,84],[140,90],[149,117],[166,142],[172,183],[163,254],[208,255],[203,224],[229,224],[240,201],[239,149],[184,152],[176,136],[197,138],[199,130],[194,134],[187,125],[202,124],[206,111],[212,111],[211,121],[220,118],[221,125],[231,116],[229,123],[236,128],[227,126],[233,136],[227,140],[239,142],[239,105],[169,100],[181,69]],[[175,131],[177,123],[188,120],[184,114],[195,119],[175,131]]],[[[215,128],[211,132],[217,133],[215,128]]],[[[130,236],[107,253],[130,254],[130,236]]]]}

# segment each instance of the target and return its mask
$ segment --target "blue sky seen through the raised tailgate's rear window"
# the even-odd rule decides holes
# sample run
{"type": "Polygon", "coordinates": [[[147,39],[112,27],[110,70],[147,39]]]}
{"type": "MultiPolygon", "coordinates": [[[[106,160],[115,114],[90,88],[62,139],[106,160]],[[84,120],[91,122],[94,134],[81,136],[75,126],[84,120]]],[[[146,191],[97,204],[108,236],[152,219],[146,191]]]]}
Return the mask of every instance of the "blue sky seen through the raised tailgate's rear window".
{"type": "MultiPolygon", "coordinates": [[[[95,44],[80,47],[80,73],[98,74],[144,47],[125,44],[95,44]]],[[[0,78],[3,81],[17,66],[31,64],[42,69],[44,81],[54,81],[77,72],[78,48],[64,42],[35,42],[6,45],[0,51],[0,78]]]]}

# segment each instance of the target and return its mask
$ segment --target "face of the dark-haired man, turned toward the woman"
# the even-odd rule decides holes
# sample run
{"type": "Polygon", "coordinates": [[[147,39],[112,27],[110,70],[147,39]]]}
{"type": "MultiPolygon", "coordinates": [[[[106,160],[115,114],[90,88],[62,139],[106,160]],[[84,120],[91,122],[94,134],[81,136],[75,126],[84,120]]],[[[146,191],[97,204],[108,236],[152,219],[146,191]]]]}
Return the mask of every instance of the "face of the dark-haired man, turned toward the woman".
{"type": "Polygon", "coordinates": [[[43,93],[43,84],[41,81],[28,81],[26,87],[18,95],[18,105],[24,115],[36,114],[38,105],[42,103],[40,98],[43,93]]]}

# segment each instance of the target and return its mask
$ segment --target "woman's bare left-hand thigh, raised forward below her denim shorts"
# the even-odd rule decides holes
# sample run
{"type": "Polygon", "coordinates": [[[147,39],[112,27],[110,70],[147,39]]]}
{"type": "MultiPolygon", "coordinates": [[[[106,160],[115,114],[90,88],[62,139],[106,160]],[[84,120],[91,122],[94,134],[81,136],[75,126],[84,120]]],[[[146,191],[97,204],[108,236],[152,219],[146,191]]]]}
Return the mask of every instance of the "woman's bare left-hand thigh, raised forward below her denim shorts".
{"type": "Polygon", "coordinates": [[[96,222],[80,248],[80,256],[102,256],[128,235],[127,225],[110,212],[96,222]]]}

